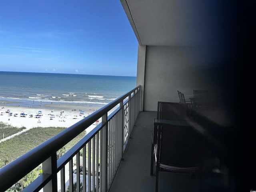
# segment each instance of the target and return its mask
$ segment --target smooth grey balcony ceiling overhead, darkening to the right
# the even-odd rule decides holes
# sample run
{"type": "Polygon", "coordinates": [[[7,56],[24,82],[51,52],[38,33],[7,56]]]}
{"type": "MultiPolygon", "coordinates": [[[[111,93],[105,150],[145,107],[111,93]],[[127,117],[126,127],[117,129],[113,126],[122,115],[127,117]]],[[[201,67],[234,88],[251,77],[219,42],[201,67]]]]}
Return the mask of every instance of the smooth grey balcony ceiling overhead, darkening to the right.
{"type": "Polygon", "coordinates": [[[216,42],[216,2],[120,0],[140,45],[195,46],[216,42]]]}

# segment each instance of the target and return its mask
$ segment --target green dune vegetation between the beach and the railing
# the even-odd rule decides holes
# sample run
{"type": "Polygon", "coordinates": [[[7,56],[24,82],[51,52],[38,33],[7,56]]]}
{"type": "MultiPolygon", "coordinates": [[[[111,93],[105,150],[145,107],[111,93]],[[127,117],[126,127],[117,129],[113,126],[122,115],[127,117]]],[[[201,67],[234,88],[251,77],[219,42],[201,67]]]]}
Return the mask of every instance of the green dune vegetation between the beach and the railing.
{"type": "MultiPolygon", "coordinates": [[[[20,132],[23,128],[16,128],[12,126],[5,126],[0,124],[0,134],[4,137],[10,136],[17,132],[20,132]]],[[[32,150],[36,146],[42,144],[46,140],[52,138],[56,134],[62,132],[66,128],[63,127],[47,127],[47,128],[32,128],[20,135],[14,136],[6,141],[0,142],[0,168],[7,163],[12,162],[16,158],[22,156],[26,152],[32,150]]],[[[66,146],[62,147],[57,156],[62,156],[67,150],[69,150],[74,144],[81,140],[86,135],[86,131],[82,132],[66,146]]],[[[2,138],[1,138],[2,139],[2,138]]]]}

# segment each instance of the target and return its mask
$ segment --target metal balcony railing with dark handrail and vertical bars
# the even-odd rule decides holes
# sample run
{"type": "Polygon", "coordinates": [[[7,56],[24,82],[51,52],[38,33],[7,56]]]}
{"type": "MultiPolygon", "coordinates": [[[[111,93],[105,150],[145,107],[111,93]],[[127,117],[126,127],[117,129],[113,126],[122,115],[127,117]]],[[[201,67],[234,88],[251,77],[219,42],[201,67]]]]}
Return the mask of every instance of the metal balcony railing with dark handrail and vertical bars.
{"type": "Polygon", "coordinates": [[[42,174],[24,192],[65,192],[73,186],[86,191],[108,191],[140,111],[140,86],[97,110],[0,169],[0,189],[5,191],[42,164],[42,174]],[[109,116],[108,112],[114,110],[109,116]],[[57,159],[57,151],[94,124],[102,122],[57,159]],[[82,154],[82,157],[80,156],[82,154]],[[88,157],[88,158],[86,158],[88,157]],[[76,161],[76,174],[73,162],[76,161]],[[82,161],[82,162],[81,162],[82,161]],[[79,165],[82,164],[80,170],[79,165]],[[88,176],[87,176],[87,175],[88,176]]]}

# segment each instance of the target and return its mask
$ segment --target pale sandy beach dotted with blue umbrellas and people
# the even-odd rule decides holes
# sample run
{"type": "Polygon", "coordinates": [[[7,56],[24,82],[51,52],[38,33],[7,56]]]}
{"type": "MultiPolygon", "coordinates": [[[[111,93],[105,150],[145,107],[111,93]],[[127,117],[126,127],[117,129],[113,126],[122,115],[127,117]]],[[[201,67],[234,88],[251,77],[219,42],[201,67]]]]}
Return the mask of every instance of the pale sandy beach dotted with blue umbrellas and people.
{"type": "MultiPolygon", "coordinates": [[[[38,107],[24,107],[19,106],[18,104],[17,106],[8,104],[8,101],[1,102],[0,122],[7,123],[18,128],[26,127],[22,132],[36,127],[68,128],[102,107],[75,104],[44,104],[38,107]],[[11,113],[12,115],[10,115],[11,113]],[[22,116],[22,113],[26,115],[22,116]]],[[[100,121],[101,120],[99,120],[99,122],[100,121]]],[[[96,124],[97,123],[91,125],[86,129],[86,131],[90,132],[96,124]]]]}

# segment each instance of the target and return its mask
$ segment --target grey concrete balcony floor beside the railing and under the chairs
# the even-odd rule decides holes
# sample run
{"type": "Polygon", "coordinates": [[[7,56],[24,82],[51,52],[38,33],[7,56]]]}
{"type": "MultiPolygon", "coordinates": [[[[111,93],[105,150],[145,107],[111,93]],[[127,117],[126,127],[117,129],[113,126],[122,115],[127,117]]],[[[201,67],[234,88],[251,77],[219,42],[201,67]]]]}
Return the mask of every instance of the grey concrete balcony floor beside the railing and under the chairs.
{"type": "MultiPolygon", "coordinates": [[[[151,138],[156,112],[140,112],[110,192],[154,192],[156,176],[150,176],[151,138]]],[[[199,179],[191,174],[159,172],[159,192],[199,191],[199,179]]]]}

